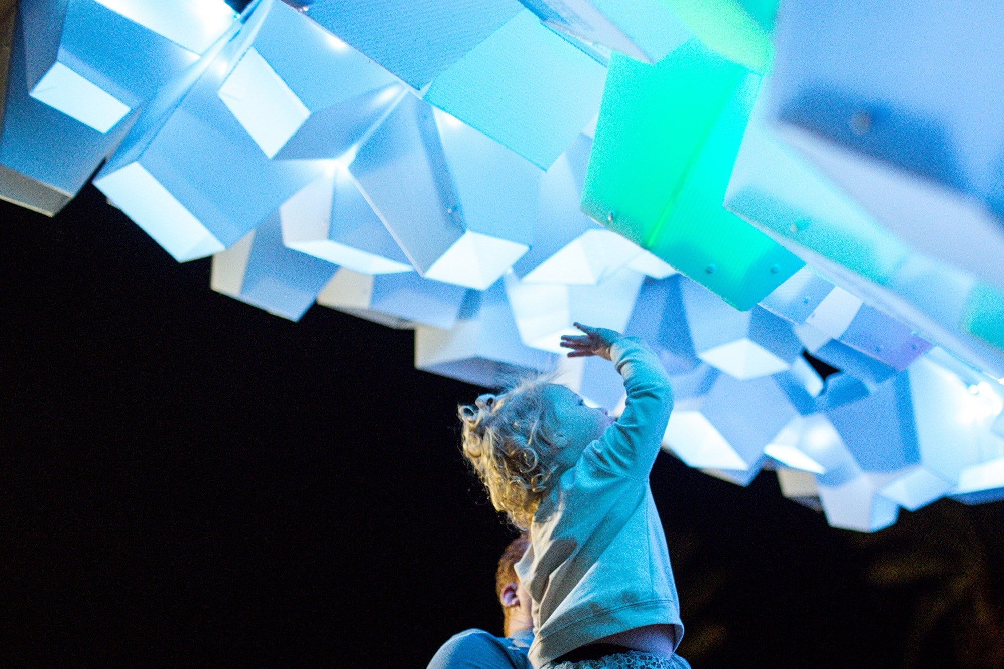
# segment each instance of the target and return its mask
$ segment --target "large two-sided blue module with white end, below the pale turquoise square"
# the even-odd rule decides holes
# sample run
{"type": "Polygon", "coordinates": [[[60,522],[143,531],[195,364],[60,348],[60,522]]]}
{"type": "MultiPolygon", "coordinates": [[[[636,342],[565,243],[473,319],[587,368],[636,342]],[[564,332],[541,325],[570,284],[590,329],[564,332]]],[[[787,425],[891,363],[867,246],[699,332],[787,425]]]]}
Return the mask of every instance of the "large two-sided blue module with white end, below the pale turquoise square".
{"type": "Polygon", "coordinates": [[[530,247],[540,170],[414,95],[349,170],[427,278],[483,290],[530,247]]]}

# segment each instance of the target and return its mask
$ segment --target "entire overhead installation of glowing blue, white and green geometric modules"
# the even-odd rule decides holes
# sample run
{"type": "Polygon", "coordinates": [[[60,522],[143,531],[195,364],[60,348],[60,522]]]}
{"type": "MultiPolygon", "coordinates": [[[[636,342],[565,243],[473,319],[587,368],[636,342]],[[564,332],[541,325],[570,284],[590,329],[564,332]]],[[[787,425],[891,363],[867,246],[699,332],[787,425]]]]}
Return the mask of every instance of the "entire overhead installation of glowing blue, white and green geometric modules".
{"type": "Polygon", "coordinates": [[[214,290],[485,388],[615,415],[559,339],[640,338],[668,453],[875,531],[1004,499],[1004,47],[872,5],[0,0],[0,199],[93,178],[214,290]]]}

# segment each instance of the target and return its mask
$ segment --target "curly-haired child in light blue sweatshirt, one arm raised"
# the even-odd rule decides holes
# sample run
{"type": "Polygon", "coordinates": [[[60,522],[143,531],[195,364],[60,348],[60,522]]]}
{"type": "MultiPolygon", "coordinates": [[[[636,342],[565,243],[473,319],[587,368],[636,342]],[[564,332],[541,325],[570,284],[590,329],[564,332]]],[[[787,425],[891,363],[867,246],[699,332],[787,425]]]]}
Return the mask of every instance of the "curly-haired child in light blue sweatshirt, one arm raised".
{"type": "Polygon", "coordinates": [[[516,573],[533,600],[536,669],[682,669],[666,535],[649,473],[673,409],[641,341],[575,323],[569,358],[612,361],[628,402],[615,422],[547,377],[460,407],[463,451],[495,508],[527,528],[516,573]]]}

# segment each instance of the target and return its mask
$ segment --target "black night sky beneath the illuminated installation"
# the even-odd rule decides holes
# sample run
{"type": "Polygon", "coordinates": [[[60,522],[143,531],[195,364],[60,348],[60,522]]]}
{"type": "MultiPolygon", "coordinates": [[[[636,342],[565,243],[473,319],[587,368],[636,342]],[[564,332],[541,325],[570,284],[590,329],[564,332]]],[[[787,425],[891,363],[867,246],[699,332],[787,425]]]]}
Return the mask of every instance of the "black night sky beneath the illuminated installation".
{"type": "MultiPolygon", "coordinates": [[[[424,667],[500,631],[478,390],[416,372],[411,331],[214,293],[90,186],[0,220],[4,664],[424,667]]],[[[664,454],[653,489],[696,668],[898,665],[909,598],[772,473],[664,454]]]]}

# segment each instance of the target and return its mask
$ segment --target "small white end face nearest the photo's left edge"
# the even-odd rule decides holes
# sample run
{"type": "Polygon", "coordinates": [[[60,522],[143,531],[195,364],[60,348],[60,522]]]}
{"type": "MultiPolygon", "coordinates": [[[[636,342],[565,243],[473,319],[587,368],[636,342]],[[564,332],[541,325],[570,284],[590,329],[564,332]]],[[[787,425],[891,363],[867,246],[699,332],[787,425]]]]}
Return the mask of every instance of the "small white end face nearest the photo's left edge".
{"type": "Polygon", "coordinates": [[[124,102],[58,60],[31,89],[31,96],[101,134],[130,113],[124,102]]]}

